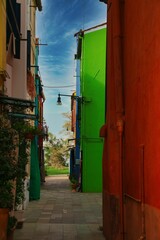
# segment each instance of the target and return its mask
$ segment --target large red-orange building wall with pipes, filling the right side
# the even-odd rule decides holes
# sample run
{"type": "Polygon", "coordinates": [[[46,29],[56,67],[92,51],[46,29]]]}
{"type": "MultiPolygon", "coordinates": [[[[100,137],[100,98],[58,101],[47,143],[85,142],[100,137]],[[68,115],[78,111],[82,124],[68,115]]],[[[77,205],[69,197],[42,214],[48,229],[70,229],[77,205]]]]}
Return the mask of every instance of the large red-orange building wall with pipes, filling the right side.
{"type": "Polygon", "coordinates": [[[159,10],[159,0],[108,0],[107,239],[160,238],[159,10]]]}

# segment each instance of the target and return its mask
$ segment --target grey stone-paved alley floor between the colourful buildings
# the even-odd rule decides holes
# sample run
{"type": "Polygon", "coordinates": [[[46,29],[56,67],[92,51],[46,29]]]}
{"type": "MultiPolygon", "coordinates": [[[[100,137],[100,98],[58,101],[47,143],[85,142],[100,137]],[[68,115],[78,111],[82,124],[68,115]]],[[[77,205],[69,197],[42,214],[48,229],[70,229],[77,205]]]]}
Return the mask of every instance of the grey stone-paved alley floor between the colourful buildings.
{"type": "Polygon", "coordinates": [[[68,176],[46,177],[41,199],[25,210],[14,240],[104,240],[102,194],[72,192],[68,176]]]}

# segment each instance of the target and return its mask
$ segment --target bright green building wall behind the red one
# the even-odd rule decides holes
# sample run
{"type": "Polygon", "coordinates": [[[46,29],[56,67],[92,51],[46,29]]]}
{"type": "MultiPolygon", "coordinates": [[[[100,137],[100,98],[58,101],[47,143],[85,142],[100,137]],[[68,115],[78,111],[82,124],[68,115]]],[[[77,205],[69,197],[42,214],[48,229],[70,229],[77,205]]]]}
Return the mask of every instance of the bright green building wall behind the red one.
{"type": "Polygon", "coordinates": [[[105,123],[106,28],[84,33],[81,56],[82,191],[102,191],[103,140],[99,130],[105,123]]]}

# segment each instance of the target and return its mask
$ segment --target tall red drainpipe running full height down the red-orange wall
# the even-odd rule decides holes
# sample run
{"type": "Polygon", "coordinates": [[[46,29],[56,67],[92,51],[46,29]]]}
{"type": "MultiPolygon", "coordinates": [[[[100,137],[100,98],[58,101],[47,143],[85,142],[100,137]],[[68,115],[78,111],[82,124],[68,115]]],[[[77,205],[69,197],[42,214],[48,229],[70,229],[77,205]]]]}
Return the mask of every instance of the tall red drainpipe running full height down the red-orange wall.
{"type": "Polygon", "coordinates": [[[112,2],[113,21],[113,57],[116,101],[116,126],[119,135],[119,176],[120,176],[120,230],[121,240],[124,240],[124,190],[123,190],[123,132],[124,132],[124,106],[123,106],[123,58],[122,58],[122,29],[121,29],[121,0],[112,2]]]}

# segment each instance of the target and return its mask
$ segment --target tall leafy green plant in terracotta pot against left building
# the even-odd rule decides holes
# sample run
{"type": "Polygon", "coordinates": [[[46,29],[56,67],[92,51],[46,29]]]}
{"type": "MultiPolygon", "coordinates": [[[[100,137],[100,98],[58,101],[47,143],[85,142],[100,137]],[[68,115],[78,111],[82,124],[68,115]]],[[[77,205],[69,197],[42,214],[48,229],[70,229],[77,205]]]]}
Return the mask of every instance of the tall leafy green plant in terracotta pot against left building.
{"type": "MultiPolygon", "coordinates": [[[[0,240],[6,240],[9,212],[12,210],[11,214],[15,214],[13,209],[19,209],[24,201],[24,181],[30,146],[24,138],[26,129],[28,123],[25,120],[10,120],[4,115],[0,116],[0,240]],[[1,221],[2,217],[4,218],[1,221]]],[[[24,219],[18,220],[22,226],[24,219]]]]}

